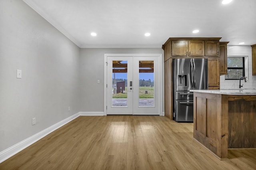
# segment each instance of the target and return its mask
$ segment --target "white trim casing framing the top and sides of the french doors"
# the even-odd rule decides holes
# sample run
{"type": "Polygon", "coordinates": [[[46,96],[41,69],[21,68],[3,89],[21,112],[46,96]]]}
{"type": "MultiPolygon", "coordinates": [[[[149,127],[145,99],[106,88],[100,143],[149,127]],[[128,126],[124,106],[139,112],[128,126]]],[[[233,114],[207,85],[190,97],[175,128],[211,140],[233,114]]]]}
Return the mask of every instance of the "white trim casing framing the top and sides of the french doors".
{"type": "Polygon", "coordinates": [[[162,54],[104,54],[104,115],[107,115],[107,57],[148,57],[148,56],[155,56],[159,57],[160,61],[160,116],[163,116],[163,102],[162,102],[162,96],[163,96],[163,88],[162,88],[162,54]]]}

